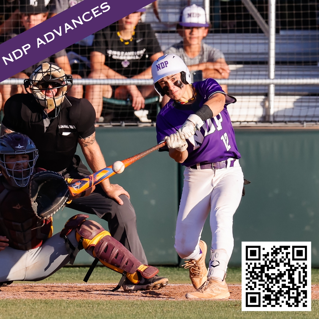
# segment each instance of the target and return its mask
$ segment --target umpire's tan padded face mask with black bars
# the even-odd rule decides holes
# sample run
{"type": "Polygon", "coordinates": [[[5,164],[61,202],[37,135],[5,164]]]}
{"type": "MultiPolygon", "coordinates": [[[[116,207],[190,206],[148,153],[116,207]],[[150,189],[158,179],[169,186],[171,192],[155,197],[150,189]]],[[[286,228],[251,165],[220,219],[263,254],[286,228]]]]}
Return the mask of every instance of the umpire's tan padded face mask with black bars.
{"type": "Polygon", "coordinates": [[[48,62],[42,63],[32,72],[30,78],[24,80],[25,88],[31,90],[49,119],[59,115],[64,97],[72,85],[72,75],[66,75],[62,68],[48,62]],[[71,84],[69,88],[68,84],[71,84]],[[53,109],[55,111],[51,111],[53,109]]]}

